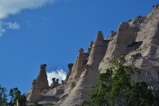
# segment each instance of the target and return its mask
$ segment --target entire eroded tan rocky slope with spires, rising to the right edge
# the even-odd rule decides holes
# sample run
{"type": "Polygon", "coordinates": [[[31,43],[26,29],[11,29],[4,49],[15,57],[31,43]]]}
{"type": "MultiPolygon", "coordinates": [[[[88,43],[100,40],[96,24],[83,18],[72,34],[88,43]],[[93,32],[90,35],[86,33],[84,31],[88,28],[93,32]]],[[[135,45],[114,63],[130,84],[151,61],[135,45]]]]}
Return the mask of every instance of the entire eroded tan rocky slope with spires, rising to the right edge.
{"type": "Polygon", "coordinates": [[[81,48],[74,64],[68,64],[68,75],[62,84],[53,79],[52,86],[46,81],[46,65],[41,66],[38,77],[27,96],[29,103],[38,101],[48,105],[79,106],[88,96],[97,77],[109,68],[111,62],[124,56],[126,64],[137,67],[139,73],[132,77],[150,83],[149,75],[157,82],[159,75],[159,5],[153,7],[150,14],[138,16],[128,22],[122,22],[117,32],[111,32],[106,39],[103,33],[97,33],[96,40],[90,42],[86,52],[81,48]]]}

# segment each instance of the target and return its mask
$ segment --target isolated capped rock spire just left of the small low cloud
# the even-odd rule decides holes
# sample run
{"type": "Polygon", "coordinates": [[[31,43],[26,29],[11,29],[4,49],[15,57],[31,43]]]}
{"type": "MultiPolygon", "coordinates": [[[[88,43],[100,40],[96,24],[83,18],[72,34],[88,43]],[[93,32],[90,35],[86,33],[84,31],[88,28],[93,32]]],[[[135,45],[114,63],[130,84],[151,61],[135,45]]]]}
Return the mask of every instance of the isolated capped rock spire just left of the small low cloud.
{"type": "Polygon", "coordinates": [[[40,66],[40,72],[36,78],[36,83],[40,92],[42,92],[44,89],[49,89],[47,75],[46,75],[46,64],[42,64],[40,66]]]}

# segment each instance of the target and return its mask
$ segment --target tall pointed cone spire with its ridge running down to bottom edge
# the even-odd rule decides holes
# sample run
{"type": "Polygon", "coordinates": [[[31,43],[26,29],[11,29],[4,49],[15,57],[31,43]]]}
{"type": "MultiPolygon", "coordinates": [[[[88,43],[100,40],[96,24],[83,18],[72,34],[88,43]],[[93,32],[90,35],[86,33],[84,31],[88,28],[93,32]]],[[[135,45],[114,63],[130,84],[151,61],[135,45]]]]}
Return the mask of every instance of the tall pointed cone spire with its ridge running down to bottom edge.
{"type": "Polygon", "coordinates": [[[99,31],[88,57],[89,60],[81,73],[79,81],[61,106],[79,106],[88,97],[88,93],[92,90],[91,86],[97,82],[97,77],[100,73],[98,65],[103,59],[108,42],[104,40],[102,32],[99,31]]]}

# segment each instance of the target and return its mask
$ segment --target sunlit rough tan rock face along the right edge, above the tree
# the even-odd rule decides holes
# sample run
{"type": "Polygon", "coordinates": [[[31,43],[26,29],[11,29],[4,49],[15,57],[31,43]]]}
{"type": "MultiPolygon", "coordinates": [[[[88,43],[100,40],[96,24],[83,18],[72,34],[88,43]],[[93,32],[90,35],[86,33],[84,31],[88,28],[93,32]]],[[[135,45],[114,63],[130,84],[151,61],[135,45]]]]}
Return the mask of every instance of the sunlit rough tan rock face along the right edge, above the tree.
{"type": "MultiPolygon", "coordinates": [[[[151,84],[150,77],[148,77],[148,73],[150,73],[155,81],[159,81],[159,8],[157,5],[147,15],[144,25],[140,27],[136,42],[142,42],[142,44],[136,51],[133,51],[133,54],[140,53],[141,56],[130,60],[129,63],[141,71],[137,80],[144,77],[145,81],[151,84]]],[[[128,56],[125,58],[127,59],[128,56]]]]}

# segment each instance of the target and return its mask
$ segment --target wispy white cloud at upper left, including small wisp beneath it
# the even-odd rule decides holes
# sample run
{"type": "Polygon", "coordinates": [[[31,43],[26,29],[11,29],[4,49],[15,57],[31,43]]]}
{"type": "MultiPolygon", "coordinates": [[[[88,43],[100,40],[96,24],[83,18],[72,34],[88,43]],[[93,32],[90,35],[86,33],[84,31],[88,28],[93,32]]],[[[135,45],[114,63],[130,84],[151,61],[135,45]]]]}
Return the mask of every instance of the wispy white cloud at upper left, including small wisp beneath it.
{"type": "Polygon", "coordinates": [[[7,29],[20,29],[17,22],[4,22],[3,19],[10,15],[20,13],[24,9],[40,8],[55,1],[56,0],[0,0],[0,36],[2,36],[7,29]]]}

